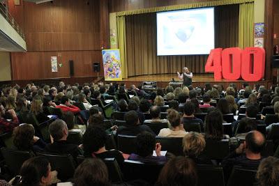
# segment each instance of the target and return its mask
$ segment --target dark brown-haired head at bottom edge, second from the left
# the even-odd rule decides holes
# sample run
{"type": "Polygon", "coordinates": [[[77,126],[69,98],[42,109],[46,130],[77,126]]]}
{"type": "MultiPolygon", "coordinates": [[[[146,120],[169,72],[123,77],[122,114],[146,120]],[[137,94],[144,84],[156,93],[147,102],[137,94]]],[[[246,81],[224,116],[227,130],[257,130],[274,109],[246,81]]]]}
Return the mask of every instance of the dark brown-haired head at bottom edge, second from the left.
{"type": "Polygon", "coordinates": [[[110,181],[107,166],[98,158],[86,158],[75,169],[73,183],[75,186],[109,186],[110,181]]]}

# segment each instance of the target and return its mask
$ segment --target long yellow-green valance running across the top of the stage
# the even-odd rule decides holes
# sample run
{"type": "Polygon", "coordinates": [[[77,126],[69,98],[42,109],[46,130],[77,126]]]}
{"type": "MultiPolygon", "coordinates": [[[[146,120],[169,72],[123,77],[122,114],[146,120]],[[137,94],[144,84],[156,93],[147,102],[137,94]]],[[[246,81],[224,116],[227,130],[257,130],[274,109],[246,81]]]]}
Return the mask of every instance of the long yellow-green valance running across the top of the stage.
{"type": "Polygon", "coordinates": [[[169,10],[181,10],[181,9],[189,9],[189,8],[208,7],[208,6],[223,6],[223,5],[230,5],[230,4],[250,3],[250,2],[254,2],[254,0],[205,1],[205,2],[198,2],[198,3],[174,5],[174,6],[160,6],[154,8],[144,8],[140,10],[123,11],[123,12],[116,13],[116,16],[135,15],[135,14],[142,14],[142,13],[156,13],[156,12],[169,11],[169,10]]]}

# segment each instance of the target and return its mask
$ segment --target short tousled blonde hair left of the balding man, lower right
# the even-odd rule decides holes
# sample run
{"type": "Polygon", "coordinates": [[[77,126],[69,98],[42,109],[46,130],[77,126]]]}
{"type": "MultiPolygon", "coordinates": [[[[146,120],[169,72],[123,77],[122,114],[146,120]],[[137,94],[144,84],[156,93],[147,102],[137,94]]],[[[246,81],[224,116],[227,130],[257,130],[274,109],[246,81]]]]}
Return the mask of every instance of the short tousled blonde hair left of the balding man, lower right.
{"type": "Polygon", "coordinates": [[[204,136],[198,132],[189,132],[182,139],[183,152],[188,157],[197,157],[206,145],[204,136]]]}

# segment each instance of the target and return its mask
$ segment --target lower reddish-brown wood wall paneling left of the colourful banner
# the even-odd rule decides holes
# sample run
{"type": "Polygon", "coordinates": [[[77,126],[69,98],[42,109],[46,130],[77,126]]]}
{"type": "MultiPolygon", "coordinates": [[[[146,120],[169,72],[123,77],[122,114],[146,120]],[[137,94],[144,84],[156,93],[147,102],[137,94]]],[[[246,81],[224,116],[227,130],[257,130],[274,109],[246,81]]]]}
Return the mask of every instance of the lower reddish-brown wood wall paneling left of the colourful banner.
{"type": "MultiPolygon", "coordinates": [[[[15,52],[11,54],[13,80],[45,79],[70,77],[68,61],[74,61],[74,77],[97,76],[93,72],[93,62],[101,62],[101,52],[96,51],[68,51],[68,52],[15,52]],[[63,66],[58,72],[51,72],[50,57],[58,56],[57,61],[63,66]]],[[[103,65],[100,63],[103,75],[103,65]]]]}

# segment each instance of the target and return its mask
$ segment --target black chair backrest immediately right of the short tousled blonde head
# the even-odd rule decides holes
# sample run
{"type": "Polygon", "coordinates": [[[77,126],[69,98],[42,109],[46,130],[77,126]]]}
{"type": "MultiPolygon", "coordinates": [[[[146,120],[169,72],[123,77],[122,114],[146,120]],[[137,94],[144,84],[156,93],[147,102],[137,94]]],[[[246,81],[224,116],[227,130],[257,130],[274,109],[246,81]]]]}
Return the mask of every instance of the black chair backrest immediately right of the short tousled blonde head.
{"type": "Polygon", "coordinates": [[[204,154],[211,160],[223,160],[224,157],[229,155],[229,139],[220,141],[207,139],[204,154]]]}

